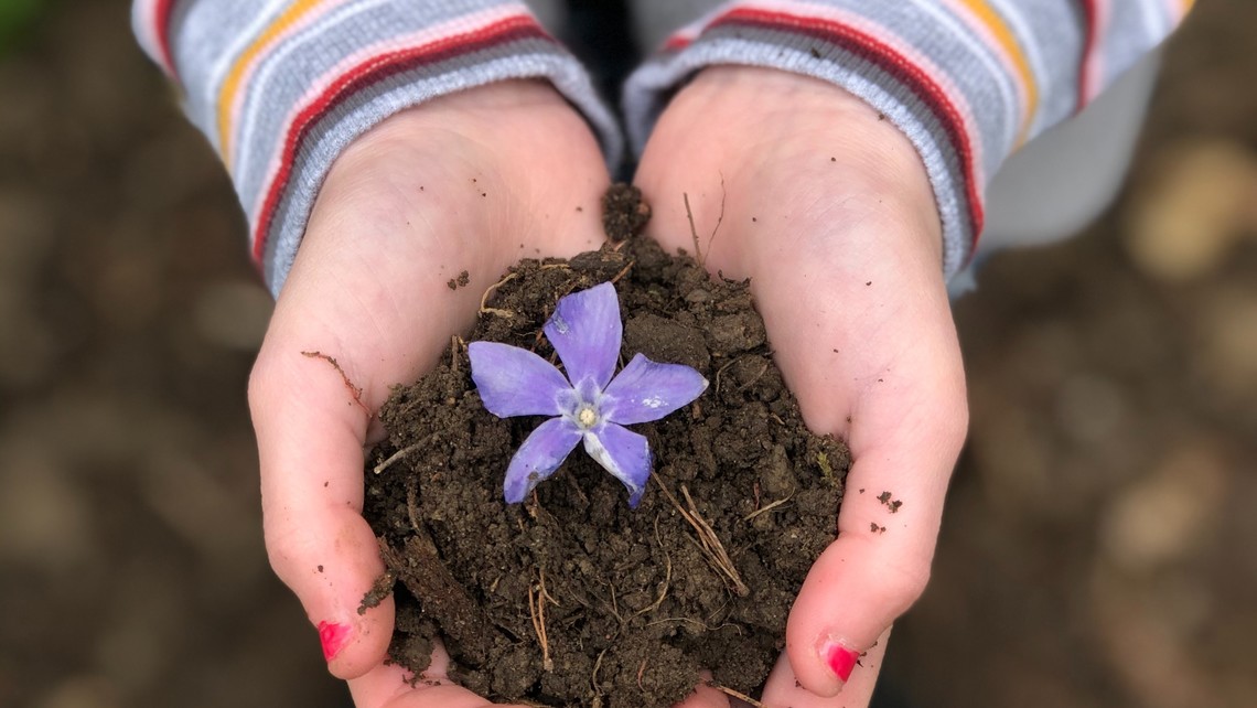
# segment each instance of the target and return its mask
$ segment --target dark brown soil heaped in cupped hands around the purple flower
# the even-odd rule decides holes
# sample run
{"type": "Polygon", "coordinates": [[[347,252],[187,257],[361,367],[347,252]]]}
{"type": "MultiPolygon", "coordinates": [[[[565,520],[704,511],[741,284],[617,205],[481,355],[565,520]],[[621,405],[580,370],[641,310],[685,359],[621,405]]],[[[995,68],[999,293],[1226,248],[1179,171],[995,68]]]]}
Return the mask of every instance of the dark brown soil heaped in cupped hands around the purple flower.
{"type": "Polygon", "coordinates": [[[665,707],[703,668],[755,693],[833,539],[846,448],[804,429],[747,283],[713,280],[654,241],[522,262],[471,338],[549,357],[542,326],[554,303],[606,280],[626,319],[622,361],[685,363],[710,387],[635,426],[655,455],[636,511],[579,449],[507,506],[503,473],[542,419],[485,411],[465,348],[397,390],[381,411],[390,439],[368,463],[366,508],[398,581],[392,658],[421,672],[429,638],[441,636],[464,685],[554,707],[665,707]]]}

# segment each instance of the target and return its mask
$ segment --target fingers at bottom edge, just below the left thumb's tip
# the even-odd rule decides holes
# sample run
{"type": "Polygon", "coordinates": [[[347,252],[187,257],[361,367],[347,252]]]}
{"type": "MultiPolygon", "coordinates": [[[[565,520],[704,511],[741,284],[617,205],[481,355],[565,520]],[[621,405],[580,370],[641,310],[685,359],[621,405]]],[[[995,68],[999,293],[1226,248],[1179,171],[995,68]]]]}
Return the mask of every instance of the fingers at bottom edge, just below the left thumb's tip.
{"type": "MultiPolygon", "coordinates": [[[[432,663],[417,677],[397,665],[377,667],[349,680],[357,708],[488,708],[497,705],[450,682],[449,654],[434,643],[432,663]]],[[[520,707],[522,708],[522,707],[520,707]]]]}

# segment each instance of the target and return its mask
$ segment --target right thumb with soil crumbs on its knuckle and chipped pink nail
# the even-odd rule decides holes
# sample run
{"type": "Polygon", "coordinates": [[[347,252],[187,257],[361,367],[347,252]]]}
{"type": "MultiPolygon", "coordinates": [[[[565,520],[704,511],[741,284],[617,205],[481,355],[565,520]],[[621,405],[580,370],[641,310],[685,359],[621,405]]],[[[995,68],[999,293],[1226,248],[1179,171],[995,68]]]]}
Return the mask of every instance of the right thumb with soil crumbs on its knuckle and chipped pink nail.
{"type": "MultiPolygon", "coordinates": [[[[798,682],[833,695],[859,672],[861,654],[920,597],[952,468],[968,426],[959,353],[950,371],[856,399],[848,428],[854,458],[838,537],[803,581],[786,629],[798,682]]],[[[938,371],[938,358],[930,368],[938,371]]]]}

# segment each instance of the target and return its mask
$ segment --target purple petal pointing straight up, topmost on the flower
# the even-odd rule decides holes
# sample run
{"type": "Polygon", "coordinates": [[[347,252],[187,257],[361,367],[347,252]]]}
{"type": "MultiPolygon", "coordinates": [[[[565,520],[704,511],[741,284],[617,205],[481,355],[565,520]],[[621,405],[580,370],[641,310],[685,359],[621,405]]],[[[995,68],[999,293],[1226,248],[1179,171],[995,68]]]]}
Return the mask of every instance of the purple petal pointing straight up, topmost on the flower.
{"type": "Polygon", "coordinates": [[[546,323],[546,338],[567,367],[573,386],[592,379],[598,389],[611,381],[620,358],[620,298],[611,283],[572,293],[558,301],[546,323]]]}

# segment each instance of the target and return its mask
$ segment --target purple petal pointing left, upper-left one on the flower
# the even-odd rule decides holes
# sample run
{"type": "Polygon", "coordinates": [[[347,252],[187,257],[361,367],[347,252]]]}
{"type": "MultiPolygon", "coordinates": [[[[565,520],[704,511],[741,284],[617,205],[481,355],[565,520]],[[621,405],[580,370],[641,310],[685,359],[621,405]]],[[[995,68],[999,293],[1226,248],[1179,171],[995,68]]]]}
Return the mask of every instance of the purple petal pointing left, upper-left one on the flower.
{"type": "Polygon", "coordinates": [[[559,415],[559,395],[571,389],[563,373],[528,350],[500,342],[471,342],[471,380],[484,407],[498,418],[559,415]]]}

